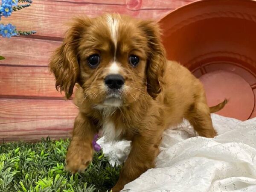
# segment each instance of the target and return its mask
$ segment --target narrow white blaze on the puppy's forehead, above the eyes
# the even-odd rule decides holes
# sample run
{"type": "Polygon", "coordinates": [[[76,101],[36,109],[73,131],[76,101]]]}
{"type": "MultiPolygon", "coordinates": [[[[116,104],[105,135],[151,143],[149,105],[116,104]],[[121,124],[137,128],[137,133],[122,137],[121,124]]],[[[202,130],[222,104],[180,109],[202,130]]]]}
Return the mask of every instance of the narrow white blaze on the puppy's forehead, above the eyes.
{"type": "MultiPolygon", "coordinates": [[[[115,44],[115,48],[116,48],[119,20],[116,17],[113,17],[113,15],[107,15],[107,22],[108,22],[108,27],[110,30],[111,38],[112,38],[112,40],[115,44]]],[[[116,51],[115,51],[115,55],[116,55],[116,51]]]]}

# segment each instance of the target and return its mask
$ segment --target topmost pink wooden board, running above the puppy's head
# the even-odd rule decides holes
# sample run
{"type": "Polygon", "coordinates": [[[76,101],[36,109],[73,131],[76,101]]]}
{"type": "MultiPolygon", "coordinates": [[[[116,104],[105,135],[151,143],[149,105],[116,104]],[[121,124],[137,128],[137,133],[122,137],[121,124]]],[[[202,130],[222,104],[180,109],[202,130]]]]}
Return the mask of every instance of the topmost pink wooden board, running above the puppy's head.
{"type": "Polygon", "coordinates": [[[12,13],[3,23],[12,23],[19,30],[35,30],[37,36],[63,37],[64,24],[77,15],[96,17],[118,12],[143,19],[160,19],[171,10],[194,0],[36,0],[32,6],[12,13]]]}

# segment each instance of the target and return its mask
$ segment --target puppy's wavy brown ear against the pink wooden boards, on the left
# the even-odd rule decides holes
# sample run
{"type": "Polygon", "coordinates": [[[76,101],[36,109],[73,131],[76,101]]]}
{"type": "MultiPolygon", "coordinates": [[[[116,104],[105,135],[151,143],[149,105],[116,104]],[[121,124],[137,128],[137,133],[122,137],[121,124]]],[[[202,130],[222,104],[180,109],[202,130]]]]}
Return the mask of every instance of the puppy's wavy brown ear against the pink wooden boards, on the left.
{"type": "Polygon", "coordinates": [[[67,99],[73,94],[73,88],[79,77],[77,47],[90,18],[76,18],[67,30],[63,43],[51,55],[49,70],[54,73],[55,87],[64,91],[67,99]]]}

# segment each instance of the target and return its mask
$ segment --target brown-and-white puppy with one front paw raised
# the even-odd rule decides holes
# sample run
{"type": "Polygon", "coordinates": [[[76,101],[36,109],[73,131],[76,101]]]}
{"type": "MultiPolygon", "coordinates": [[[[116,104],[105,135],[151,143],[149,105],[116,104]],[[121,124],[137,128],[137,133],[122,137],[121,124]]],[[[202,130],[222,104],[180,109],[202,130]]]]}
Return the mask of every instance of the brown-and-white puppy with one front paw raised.
{"type": "Polygon", "coordinates": [[[166,128],[188,119],[202,137],[215,137],[201,82],[167,61],[157,23],[118,14],[79,17],[49,62],[56,89],[67,99],[77,84],[79,108],[67,152],[67,169],[84,171],[93,157],[99,129],[110,140],[131,140],[113,192],[153,168],[166,128]]]}

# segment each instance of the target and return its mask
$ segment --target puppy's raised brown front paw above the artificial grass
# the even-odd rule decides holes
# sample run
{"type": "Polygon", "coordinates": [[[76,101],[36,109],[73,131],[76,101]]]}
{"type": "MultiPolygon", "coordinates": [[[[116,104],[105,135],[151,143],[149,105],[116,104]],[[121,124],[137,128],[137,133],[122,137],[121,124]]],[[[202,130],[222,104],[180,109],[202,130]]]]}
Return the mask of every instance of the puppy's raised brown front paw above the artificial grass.
{"type": "Polygon", "coordinates": [[[90,143],[71,142],[66,156],[66,170],[72,174],[84,172],[93,160],[93,148],[90,143]]]}

